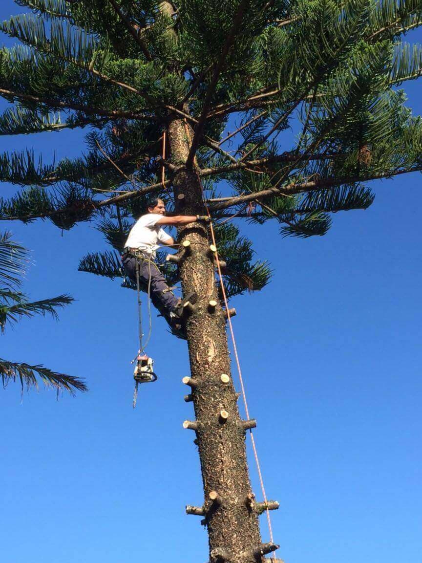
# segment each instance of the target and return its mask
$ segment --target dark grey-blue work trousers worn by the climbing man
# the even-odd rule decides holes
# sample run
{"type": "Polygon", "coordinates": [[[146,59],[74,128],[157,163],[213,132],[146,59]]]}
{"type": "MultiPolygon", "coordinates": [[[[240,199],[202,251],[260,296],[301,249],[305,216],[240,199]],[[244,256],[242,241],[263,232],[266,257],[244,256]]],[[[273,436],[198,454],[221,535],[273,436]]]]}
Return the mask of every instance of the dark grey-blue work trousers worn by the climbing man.
{"type": "Polygon", "coordinates": [[[174,312],[174,309],[177,307],[177,297],[170,291],[163,274],[161,274],[156,263],[147,254],[139,253],[138,257],[132,254],[125,254],[123,256],[124,270],[132,282],[136,283],[136,262],[139,265],[139,280],[142,291],[148,291],[151,277],[150,297],[152,305],[161,314],[169,317],[170,312],[174,312]]]}

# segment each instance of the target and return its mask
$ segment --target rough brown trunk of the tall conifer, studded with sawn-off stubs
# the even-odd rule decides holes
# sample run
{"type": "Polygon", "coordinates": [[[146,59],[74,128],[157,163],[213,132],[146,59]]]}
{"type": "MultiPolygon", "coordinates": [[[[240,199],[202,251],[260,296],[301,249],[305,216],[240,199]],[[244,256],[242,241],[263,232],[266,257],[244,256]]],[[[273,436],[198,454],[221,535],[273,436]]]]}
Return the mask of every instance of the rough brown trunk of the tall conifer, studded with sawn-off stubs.
{"type": "MultiPolygon", "coordinates": [[[[180,118],[169,123],[168,138],[173,164],[186,163],[192,131],[180,118]]],[[[181,171],[174,179],[176,211],[204,214],[199,179],[193,170],[181,171]],[[183,194],[183,196],[182,196],[183,194]]],[[[196,292],[198,301],[186,311],[186,333],[195,421],[184,427],[194,430],[199,448],[205,501],[187,512],[204,517],[208,528],[210,561],[255,563],[261,561],[258,510],[253,502],[245,450],[245,428],[237,409],[237,396],[230,376],[225,316],[218,302],[213,254],[204,227],[183,227],[178,263],[183,295],[196,292]],[[217,302],[209,305],[210,301],[217,302]],[[226,374],[226,377],[222,377],[226,374]],[[227,377],[228,376],[228,377],[227,377]]]]}

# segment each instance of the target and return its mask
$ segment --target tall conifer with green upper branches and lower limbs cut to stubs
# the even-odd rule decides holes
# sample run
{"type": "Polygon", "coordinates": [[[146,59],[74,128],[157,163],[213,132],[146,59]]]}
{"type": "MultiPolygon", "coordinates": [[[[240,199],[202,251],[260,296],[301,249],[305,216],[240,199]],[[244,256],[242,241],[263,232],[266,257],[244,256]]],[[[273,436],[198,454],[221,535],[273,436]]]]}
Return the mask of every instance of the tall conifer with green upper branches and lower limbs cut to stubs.
{"type": "MultiPolygon", "coordinates": [[[[212,563],[261,561],[277,546],[271,533],[262,543],[258,515],[277,504],[255,502],[250,487],[255,423],[239,417],[225,323],[227,298],[263,288],[271,270],[227,221],[324,235],[331,213],[369,207],[365,182],[422,169],[422,122],[397,89],[422,74],[420,47],[403,41],[422,2],[16,2],[28,14],[2,29],[24,47],[0,53],[0,94],[14,103],[0,131],[89,126],[90,150],[51,165],[32,150],[3,155],[0,178],[29,187],[2,201],[0,218],[96,220],[122,251],[147,195],[172,196],[176,215],[208,208],[210,228],[182,226],[164,272],[197,294],[185,325],[196,420],[184,426],[205,501],[187,510],[203,517],[212,563]]],[[[120,277],[114,252],[89,253],[79,269],[120,277]]]]}

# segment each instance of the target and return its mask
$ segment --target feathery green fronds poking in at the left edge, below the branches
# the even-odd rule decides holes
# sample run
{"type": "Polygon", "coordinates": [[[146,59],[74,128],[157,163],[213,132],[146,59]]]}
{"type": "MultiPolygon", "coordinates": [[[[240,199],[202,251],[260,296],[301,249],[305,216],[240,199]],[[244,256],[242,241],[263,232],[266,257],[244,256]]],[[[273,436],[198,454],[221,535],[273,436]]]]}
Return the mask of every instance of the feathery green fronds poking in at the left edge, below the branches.
{"type": "MultiPolygon", "coordinates": [[[[22,318],[32,318],[34,315],[52,315],[58,319],[57,309],[61,309],[73,302],[68,295],[60,295],[41,301],[29,301],[19,288],[23,282],[26,266],[29,262],[28,251],[14,242],[8,232],[0,233],[0,332],[3,334],[7,325],[14,325],[22,318]]],[[[0,358],[0,377],[3,386],[12,379],[18,379],[22,391],[24,387],[38,388],[38,379],[47,387],[53,387],[57,392],[87,391],[82,379],[65,373],[53,372],[42,365],[30,365],[13,362],[0,358]]]]}

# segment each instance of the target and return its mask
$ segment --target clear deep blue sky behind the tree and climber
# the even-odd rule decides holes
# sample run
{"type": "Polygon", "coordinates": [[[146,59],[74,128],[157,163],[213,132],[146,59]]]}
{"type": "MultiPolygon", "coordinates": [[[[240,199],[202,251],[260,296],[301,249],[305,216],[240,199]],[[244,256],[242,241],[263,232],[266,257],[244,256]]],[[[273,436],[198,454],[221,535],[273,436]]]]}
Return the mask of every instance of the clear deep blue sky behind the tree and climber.
{"type": "MultiPolygon", "coordinates": [[[[18,10],[4,0],[0,19],[18,10]]],[[[419,83],[406,90],[422,113],[419,83]]],[[[78,132],[0,137],[1,151],[26,146],[46,162],[84,149],[78,132]]],[[[231,305],[286,563],[422,561],[420,182],[378,182],[372,207],[335,215],[322,238],[245,227],[275,270],[271,285],[231,305]]],[[[1,227],[33,251],[32,298],[77,298],[59,323],[8,330],[1,356],[84,377],[90,388],[59,401],[30,392],[23,404],[17,383],[1,392],[2,562],[205,562],[205,530],[184,514],[203,501],[193,436],[182,429],[193,417],[181,383],[185,343],[154,318],[159,381],[141,387],[133,410],[135,295],[77,272],[83,254],[105,248],[100,234],[87,224],[64,234],[49,222],[1,227]]]]}

